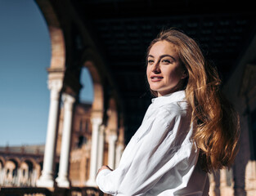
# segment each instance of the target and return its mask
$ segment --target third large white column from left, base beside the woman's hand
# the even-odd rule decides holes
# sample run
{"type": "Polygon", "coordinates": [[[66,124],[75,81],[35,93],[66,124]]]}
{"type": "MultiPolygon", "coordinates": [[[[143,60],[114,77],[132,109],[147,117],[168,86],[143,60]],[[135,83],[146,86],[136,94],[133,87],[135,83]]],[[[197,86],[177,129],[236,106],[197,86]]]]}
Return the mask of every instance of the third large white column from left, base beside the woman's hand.
{"type": "Polygon", "coordinates": [[[91,146],[91,160],[90,160],[90,177],[87,182],[89,186],[97,186],[96,175],[97,175],[97,153],[98,153],[98,141],[99,131],[101,126],[101,118],[92,118],[92,146],[91,146]]]}

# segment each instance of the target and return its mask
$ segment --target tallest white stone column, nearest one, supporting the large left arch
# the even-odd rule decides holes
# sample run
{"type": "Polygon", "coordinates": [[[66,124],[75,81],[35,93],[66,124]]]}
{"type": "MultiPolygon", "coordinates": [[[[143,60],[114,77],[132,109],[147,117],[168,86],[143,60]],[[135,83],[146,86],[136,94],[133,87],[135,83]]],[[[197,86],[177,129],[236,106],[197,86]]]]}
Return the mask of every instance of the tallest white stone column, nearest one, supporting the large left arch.
{"type": "Polygon", "coordinates": [[[57,121],[60,105],[60,91],[62,80],[55,79],[48,81],[48,88],[51,91],[50,109],[47,125],[47,140],[44,149],[43,171],[37,181],[39,187],[54,187],[54,155],[56,148],[57,121]]]}

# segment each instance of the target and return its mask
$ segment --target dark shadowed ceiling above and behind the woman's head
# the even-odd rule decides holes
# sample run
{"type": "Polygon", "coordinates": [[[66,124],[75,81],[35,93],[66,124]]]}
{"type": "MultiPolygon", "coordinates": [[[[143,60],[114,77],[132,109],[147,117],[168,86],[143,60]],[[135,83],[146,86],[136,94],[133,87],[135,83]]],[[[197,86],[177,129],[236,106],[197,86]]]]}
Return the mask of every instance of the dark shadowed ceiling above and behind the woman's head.
{"type": "Polygon", "coordinates": [[[71,2],[106,60],[124,109],[127,140],[141,123],[150,92],[146,47],[161,29],[176,27],[200,43],[223,82],[231,75],[256,27],[249,1],[75,0],[71,2]]]}

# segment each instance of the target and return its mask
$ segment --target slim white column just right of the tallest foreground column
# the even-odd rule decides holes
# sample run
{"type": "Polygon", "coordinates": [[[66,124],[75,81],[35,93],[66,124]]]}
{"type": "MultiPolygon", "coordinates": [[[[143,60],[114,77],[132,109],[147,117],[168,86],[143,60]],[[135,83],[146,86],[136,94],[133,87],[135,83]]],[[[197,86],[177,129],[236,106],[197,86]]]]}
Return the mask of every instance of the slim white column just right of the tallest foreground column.
{"type": "Polygon", "coordinates": [[[59,187],[66,188],[70,187],[68,170],[70,161],[70,141],[74,101],[75,99],[73,96],[70,96],[68,94],[64,95],[64,120],[61,139],[60,167],[56,182],[59,187]]]}

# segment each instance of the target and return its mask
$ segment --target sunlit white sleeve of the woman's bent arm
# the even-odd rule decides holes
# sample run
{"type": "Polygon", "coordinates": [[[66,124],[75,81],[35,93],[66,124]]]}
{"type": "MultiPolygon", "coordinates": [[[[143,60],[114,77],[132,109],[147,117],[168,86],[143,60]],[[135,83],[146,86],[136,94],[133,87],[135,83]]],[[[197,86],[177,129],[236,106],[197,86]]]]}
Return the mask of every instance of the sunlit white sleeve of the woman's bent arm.
{"type": "MultiPolygon", "coordinates": [[[[197,162],[197,152],[190,140],[190,118],[174,108],[159,109],[155,118],[144,122],[143,134],[132,138],[134,146],[129,158],[114,171],[103,170],[97,175],[99,188],[112,195],[142,195],[163,176],[174,181],[169,188],[184,184],[183,176],[197,162]],[[173,178],[172,178],[173,175],[173,178]]],[[[189,180],[189,179],[188,179],[189,180]]]]}

